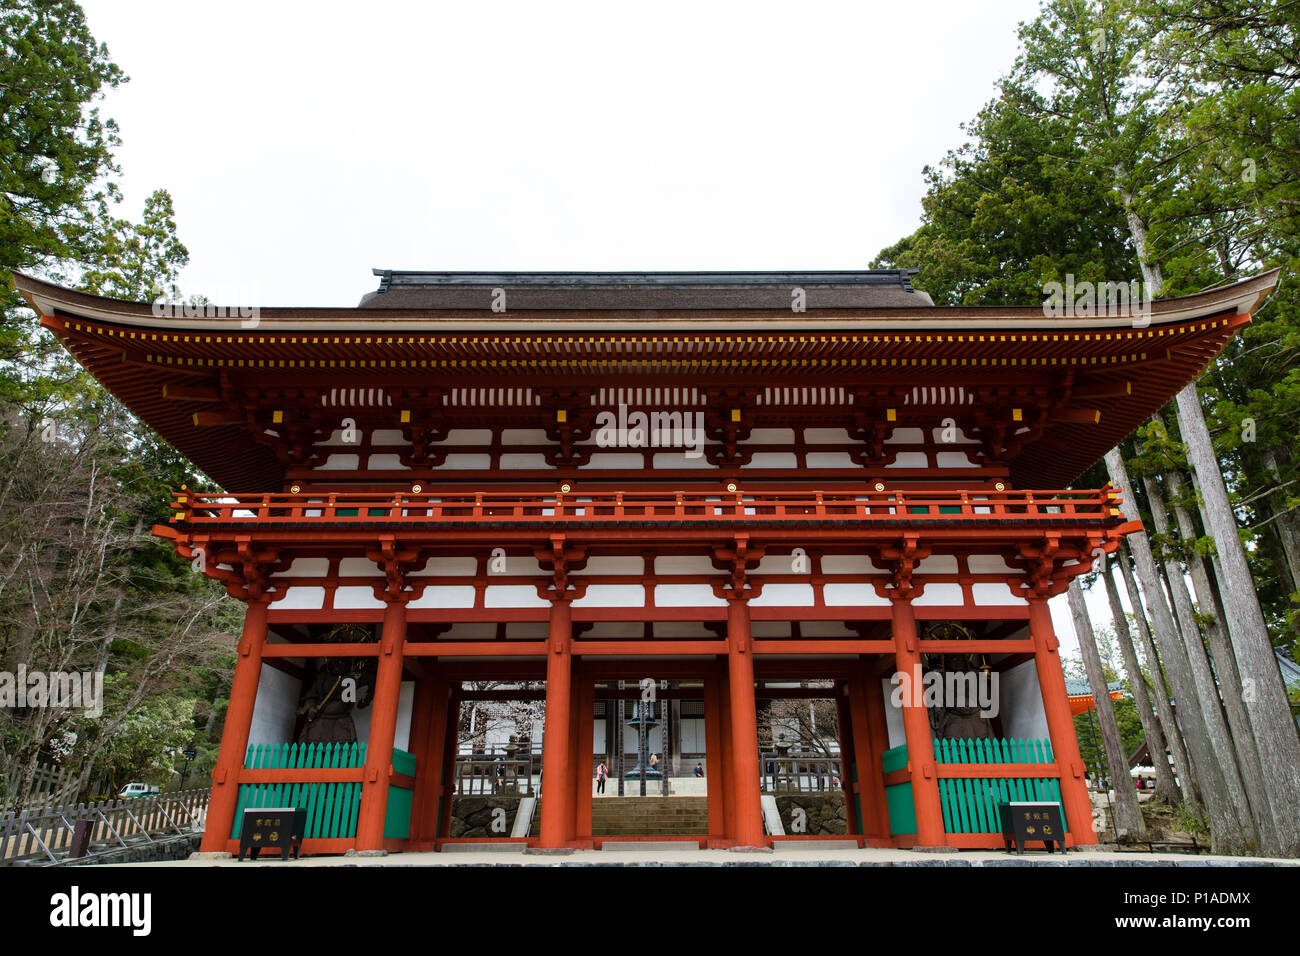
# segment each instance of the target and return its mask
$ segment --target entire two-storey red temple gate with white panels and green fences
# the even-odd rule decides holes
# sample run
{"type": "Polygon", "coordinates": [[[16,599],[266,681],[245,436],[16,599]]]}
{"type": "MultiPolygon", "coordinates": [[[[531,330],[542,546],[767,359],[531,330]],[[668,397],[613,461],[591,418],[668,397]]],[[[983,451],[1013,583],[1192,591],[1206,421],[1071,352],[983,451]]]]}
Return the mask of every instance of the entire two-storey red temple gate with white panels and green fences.
{"type": "Polygon", "coordinates": [[[1273,278],[1139,320],[937,308],[906,272],[378,274],[356,308],[247,319],[18,277],[217,486],[155,529],[247,605],[205,851],[285,801],[306,852],[441,848],[467,779],[506,809],[473,839],[634,838],[592,777],[633,770],[650,695],[649,749],[707,767],[654,797],[697,801],[701,845],[816,839],[764,800],[810,782],[859,845],[1001,845],[1017,799],[1096,842],[1046,601],[1136,525],[1063,489],[1273,278]],[[994,713],[894,706],[923,671],[996,675],[994,713]],[[478,761],[476,701],[528,727],[478,761]]]}

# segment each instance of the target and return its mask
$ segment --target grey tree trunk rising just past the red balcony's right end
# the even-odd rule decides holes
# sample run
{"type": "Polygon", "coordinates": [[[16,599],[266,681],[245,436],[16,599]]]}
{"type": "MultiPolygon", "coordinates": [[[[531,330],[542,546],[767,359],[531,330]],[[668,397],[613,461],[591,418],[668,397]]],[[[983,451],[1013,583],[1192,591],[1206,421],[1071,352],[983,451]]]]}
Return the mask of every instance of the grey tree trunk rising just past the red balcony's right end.
{"type": "MultiPolygon", "coordinates": [[[[1119,488],[1124,506],[1131,514],[1136,514],[1138,498],[1128,481],[1128,470],[1124,467],[1119,449],[1110,449],[1106,453],[1106,470],[1110,472],[1110,480],[1119,488]]],[[[1169,675],[1169,683],[1174,692],[1178,723],[1182,727],[1183,739],[1187,741],[1187,749],[1196,771],[1197,790],[1205,801],[1205,812],[1210,823],[1210,842],[1216,852],[1240,853],[1245,849],[1244,834],[1238,822],[1236,812],[1230,804],[1231,799],[1227,786],[1223,783],[1223,774],[1219,771],[1218,761],[1210,747],[1205,730],[1205,717],[1201,714],[1201,705],[1196,697],[1196,685],[1192,680],[1191,665],[1187,662],[1183,639],[1161,592],[1156,559],[1150,553],[1150,541],[1147,540],[1145,532],[1138,532],[1128,536],[1128,546],[1132,549],[1134,563],[1138,566],[1138,581],[1141,584],[1147,606],[1152,613],[1152,632],[1156,635],[1160,657],[1165,662],[1165,672],[1169,675]]],[[[1216,701],[1216,706],[1218,706],[1218,701],[1216,701]]]]}

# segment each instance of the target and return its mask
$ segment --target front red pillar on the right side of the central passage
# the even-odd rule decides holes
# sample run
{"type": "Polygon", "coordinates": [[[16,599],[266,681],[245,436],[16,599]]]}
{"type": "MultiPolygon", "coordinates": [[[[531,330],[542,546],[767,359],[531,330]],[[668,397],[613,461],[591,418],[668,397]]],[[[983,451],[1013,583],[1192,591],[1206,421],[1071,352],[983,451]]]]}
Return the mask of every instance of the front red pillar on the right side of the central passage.
{"type": "Polygon", "coordinates": [[[727,605],[727,671],[731,678],[732,778],[736,816],[732,834],[740,847],[766,847],[763,810],[758,800],[758,715],[754,706],[754,646],[749,633],[749,605],[727,605]]]}

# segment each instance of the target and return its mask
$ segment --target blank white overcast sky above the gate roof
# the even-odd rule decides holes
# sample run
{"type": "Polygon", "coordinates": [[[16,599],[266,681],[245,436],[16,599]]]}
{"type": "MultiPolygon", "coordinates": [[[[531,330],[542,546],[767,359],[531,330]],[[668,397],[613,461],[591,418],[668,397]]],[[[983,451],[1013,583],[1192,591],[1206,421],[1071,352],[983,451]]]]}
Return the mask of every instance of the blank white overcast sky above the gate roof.
{"type": "Polygon", "coordinates": [[[131,77],[103,104],[121,215],[170,190],[183,291],[260,306],[352,306],[372,267],[863,268],[916,228],[922,168],[965,140],[1037,10],[82,5],[131,77]]]}

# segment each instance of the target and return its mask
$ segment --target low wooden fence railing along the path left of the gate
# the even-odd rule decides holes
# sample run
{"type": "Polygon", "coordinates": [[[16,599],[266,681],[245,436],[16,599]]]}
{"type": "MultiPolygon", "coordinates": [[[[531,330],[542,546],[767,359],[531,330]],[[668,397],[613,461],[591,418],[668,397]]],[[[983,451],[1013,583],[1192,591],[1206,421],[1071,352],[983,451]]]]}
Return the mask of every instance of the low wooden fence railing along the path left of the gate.
{"type": "Polygon", "coordinates": [[[87,821],[87,853],[157,843],[203,831],[211,791],[186,790],[127,800],[47,806],[0,816],[0,865],[48,865],[69,857],[77,825],[87,821]]]}

